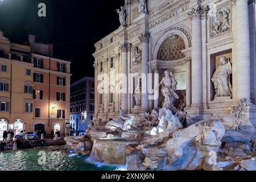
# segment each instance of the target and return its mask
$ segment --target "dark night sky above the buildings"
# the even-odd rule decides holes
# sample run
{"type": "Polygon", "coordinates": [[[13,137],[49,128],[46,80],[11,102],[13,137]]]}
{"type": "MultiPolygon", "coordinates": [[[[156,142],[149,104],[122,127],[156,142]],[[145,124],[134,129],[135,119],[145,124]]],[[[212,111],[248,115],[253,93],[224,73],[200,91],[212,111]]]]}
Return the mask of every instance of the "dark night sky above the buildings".
{"type": "Polygon", "coordinates": [[[54,44],[53,55],[72,60],[72,82],[94,76],[92,53],[96,43],[119,27],[116,9],[123,0],[3,0],[0,30],[11,42],[27,35],[54,44]],[[38,4],[46,3],[47,17],[39,18],[38,4]]]}

